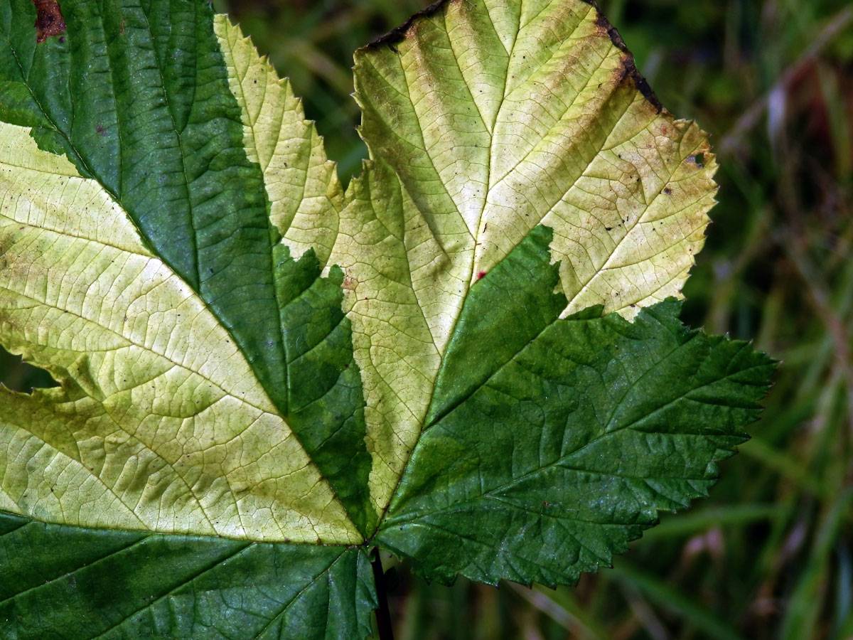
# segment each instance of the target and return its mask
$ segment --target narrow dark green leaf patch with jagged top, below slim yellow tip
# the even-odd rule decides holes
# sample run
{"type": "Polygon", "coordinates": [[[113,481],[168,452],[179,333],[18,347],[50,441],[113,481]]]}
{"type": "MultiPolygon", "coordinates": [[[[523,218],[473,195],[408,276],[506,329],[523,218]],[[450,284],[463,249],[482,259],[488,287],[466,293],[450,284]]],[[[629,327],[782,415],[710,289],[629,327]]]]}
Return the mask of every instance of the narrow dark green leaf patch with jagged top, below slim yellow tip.
{"type": "Polygon", "coordinates": [[[287,422],[322,470],[351,520],[368,536],[378,516],[370,506],[371,458],[364,442],[364,394],[352,354],[350,320],[341,311],[343,272],[328,278],[313,251],[299,260],[277,244],[276,297],[287,353],[287,422]]]}

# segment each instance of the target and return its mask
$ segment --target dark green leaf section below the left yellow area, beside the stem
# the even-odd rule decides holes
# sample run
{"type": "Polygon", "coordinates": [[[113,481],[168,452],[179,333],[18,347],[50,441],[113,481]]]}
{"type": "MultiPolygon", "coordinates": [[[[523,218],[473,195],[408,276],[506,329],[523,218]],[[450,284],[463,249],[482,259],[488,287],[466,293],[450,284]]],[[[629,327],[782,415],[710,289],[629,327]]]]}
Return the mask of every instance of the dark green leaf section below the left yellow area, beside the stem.
{"type": "Polygon", "coordinates": [[[0,513],[0,638],[352,640],[376,606],[364,550],[249,544],[0,513]]]}

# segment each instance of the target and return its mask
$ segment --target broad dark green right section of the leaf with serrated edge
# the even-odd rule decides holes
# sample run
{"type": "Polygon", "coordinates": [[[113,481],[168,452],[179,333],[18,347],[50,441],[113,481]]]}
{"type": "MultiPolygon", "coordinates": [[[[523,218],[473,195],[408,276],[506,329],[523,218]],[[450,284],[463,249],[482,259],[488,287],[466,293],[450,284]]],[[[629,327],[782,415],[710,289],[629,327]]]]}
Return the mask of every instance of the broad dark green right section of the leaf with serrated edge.
{"type": "Polygon", "coordinates": [[[685,328],[675,301],[558,319],[550,238],[472,288],[376,538],[427,578],[555,585],[608,565],[706,494],[769,387],[770,358],[685,328]]]}

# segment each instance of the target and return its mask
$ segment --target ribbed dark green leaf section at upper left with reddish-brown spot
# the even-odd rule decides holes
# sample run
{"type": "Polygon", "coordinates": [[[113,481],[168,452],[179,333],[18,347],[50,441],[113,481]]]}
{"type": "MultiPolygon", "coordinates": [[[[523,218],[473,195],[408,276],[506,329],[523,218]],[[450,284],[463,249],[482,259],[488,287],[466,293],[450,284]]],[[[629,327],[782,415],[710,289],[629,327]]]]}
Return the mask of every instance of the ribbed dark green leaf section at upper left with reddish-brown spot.
{"type": "Polygon", "coordinates": [[[36,44],[31,0],[0,1],[0,117],[38,127],[133,218],[235,336],[281,410],[287,380],[263,175],[200,0],[63,0],[36,44]]]}

